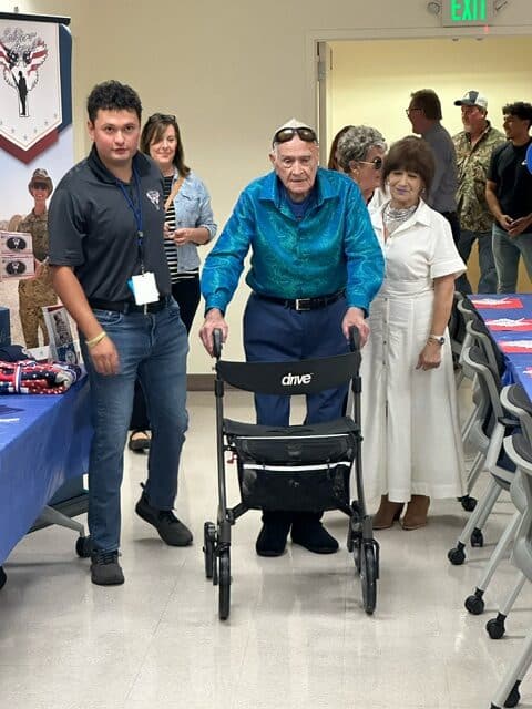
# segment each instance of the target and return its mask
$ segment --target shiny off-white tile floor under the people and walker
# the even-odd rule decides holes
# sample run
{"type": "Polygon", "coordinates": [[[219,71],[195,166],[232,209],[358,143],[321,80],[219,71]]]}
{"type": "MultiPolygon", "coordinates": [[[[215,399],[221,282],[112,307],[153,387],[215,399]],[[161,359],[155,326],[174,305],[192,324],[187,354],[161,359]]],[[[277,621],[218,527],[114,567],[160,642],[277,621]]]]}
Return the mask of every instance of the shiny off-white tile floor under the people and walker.
{"type": "MultiPolygon", "coordinates": [[[[246,394],[227,414],[246,418],[246,394]]],[[[288,545],[259,558],[258,513],[234,527],[232,613],[217,618],[217,595],[204,577],[203,522],[215,517],[214,407],[190,395],[178,515],[195,543],[165,547],[133,513],[146,459],[126,452],[123,484],[124,586],[93,586],[69,530],[49,527],[13,551],[0,593],[0,707],[10,709],[488,709],[505,666],[526,634],[532,592],[510,616],[504,639],[484,630],[513,578],[505,562],[471,616],[463,599],[510,518],[498,503],[487,545],[460,567],[447,561],[467,513],[433,504],[430,525],[379,532],[377,610],[367,616],[345,546],[319,557],[288,545]]],[[[237,502],[229,466],[229,500],[237,502]]],[[[326,515],[345,540],[346,517],[326,515]]],[[[532,678],[531,678],[532,679],[532,678]]],[[[522,686],[532,707],[532,681],[522,686]]]]}

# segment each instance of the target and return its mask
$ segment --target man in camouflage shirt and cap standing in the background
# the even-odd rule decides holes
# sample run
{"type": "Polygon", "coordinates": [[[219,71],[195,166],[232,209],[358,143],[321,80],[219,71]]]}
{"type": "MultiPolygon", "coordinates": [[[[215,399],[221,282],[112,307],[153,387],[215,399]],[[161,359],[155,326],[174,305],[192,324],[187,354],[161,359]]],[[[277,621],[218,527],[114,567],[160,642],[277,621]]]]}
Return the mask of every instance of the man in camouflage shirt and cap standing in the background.
{"type": "MultiPolygon", "coordinates": [[[[463,131],[453,136],[458,163],[457,209],[460,218],[458,250],[467,264],[474,242],[479,248],[479,292],[497,292],[491,228],[493,215],[485,201],[485,181],[493,148],[505,142],[504,135],[487,119],[488,101],[478,91],[468,91],[454,101],[461,106],[463,131]]],[[[457,290],[472,292],[466,274],[457,279],[457,290]]]]}

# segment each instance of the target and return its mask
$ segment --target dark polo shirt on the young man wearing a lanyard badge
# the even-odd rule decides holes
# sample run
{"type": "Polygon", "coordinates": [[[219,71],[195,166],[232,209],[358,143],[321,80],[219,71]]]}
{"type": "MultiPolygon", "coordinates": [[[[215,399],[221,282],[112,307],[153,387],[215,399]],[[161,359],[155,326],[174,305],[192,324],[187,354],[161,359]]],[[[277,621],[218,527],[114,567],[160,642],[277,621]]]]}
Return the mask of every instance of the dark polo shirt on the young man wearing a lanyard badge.
{"type": "MultiPolygon", "coordinates": [[[[133,178],[122,187],[136,207],[140,197],[144,270],[155,274],[161,295],[170,295],[163,246],[163,178],[143,153],[133,157],[133,169],[140,189],[133,178]]],[[[94,146],[59,183],[50,202],[48,228],[50,264],[71,266],[88,298],[133,300],[127,280],[142,270],[135,214],[94,146]]]]}

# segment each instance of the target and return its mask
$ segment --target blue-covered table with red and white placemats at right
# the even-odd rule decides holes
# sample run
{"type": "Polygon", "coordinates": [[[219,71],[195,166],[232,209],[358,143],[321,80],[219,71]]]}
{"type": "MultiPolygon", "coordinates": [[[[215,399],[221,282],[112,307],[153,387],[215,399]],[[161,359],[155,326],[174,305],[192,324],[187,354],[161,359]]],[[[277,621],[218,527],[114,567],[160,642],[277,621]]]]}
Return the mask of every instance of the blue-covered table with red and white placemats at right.
{"type": "Polygon", "coordinates": [[[504,383],[520,383],[532,401],[532,294],[469,298],[504,354],[504,383]]]}

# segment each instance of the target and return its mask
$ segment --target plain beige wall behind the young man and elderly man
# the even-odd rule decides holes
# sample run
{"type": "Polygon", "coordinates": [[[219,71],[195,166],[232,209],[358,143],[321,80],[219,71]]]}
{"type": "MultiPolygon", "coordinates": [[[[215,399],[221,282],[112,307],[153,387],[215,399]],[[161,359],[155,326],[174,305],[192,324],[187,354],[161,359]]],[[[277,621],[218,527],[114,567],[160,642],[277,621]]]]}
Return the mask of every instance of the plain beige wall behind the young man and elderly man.
{"type": "MultiPolygon", "coordinates": [[[[188,162],[207,183],[225,222],[239,189],[268,169],[274,129],[291,115],[314,122],[316,39],[448,37],[426,0],[20,0],[21,12],[72,17],[75,151],[84,138],[84,100],[115,78],[141,94],[146,115],[176,113],[188,162]]],[[[12,3],[0,0],[0,10],[12,3]]],[[[530,0],[510,0],[493,33],[532,34],[530,0]]],[[[468,31],[466,31],[468,32],[468,31]]],[[[440,70],[427,58],[427,81],[440,70]]],[[[521,63],[530,63],[530,56],[521,63]]],[[[245,290],[228,311],[228,357],[241,357],[245,290]]],[[[196,325],[200,322],[200,318],[196,325]]],[[[197,327],[195,327],[197,330],[197,327]]],[[[190,371],[211,371],[192,337],[190,371]]]]}

